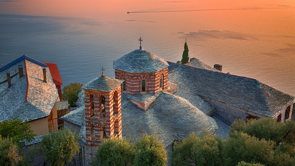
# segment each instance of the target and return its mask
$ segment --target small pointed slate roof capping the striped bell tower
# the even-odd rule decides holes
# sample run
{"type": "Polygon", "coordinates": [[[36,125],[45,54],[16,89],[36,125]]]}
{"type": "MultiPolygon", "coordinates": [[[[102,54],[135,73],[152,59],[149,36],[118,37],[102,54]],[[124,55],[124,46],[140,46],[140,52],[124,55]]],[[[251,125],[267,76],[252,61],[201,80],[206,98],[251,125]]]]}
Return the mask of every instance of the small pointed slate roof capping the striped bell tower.
{"type": "Polygon", "coordinates": [[[124,80],[111,79],[106,77],[103,73],[101,77],[95,77],[90,82],[85,84],[81,89],[87,90],[98,90],[103,92],[112,92],[116,87],[118,87],[124,80]]]}

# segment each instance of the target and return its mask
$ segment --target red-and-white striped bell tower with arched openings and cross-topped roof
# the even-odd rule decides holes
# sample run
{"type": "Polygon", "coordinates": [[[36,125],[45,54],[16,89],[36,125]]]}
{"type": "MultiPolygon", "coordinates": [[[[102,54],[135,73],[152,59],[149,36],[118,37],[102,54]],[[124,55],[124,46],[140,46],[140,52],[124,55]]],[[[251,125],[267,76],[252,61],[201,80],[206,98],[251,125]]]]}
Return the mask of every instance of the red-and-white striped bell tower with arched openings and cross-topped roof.
{"type": "Polygon", "coordinates": [[[103,139],[122,138],[121,83],[102,73],[81,89],[85,92],[86,147],[97,147],[103,139]]]}

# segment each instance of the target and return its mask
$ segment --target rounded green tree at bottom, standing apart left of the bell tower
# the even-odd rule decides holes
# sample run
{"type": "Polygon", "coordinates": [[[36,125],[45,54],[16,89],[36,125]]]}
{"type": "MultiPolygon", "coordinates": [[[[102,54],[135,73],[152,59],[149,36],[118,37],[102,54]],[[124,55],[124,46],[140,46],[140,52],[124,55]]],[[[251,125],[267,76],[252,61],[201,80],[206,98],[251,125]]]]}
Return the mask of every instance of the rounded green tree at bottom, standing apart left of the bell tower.
{"type": "Polygon", "coordinates": [[[62,166],[65,162],[70,162],[79,151],[78,136],[69,129],[51,132],[44,135],[39,148],[44,154],[45,162],[62,166]]]}

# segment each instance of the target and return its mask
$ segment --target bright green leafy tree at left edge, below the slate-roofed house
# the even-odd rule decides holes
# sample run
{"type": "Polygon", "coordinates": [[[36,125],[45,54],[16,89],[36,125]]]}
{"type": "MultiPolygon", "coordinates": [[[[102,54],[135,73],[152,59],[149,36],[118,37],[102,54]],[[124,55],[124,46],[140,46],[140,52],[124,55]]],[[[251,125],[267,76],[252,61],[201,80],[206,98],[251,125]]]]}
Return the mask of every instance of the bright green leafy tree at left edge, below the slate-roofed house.
{"type": "Polygon", "coordinates": [[[4,138],[12,138],[12,142],[22,147],[23,141],[31,142],[37,135],[30,126],[28,121],[23,122],[21,119],[4,120],[0,122],[0,135],[4,138]]]}

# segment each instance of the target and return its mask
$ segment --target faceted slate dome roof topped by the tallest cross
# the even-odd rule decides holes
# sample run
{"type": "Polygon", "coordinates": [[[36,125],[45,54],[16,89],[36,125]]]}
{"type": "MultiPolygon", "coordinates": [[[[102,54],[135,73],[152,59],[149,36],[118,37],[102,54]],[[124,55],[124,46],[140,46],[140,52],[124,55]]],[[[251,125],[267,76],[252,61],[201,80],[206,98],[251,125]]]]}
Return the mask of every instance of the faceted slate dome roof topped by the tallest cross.
{"type": "Polygon", "coordinates": [[[113,62],[113,68],[128,73],[155,73],[169,65],[165,59],[143,49],[134,50],[113,62]]]}

